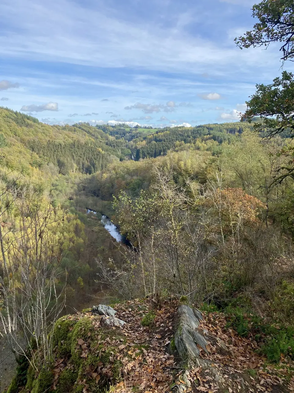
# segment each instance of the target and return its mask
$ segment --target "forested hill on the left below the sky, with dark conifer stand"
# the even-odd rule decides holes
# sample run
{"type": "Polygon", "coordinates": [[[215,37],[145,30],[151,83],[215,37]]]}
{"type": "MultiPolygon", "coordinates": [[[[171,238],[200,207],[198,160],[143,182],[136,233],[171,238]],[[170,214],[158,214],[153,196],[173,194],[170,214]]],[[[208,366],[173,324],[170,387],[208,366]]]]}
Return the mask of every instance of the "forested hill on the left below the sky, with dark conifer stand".
{"type": "Polygon", "coordinates": [[[23,174],[48,164],[62,174],[93,173],[131,154],[127,141],[96,127],[47,125],[8,108],[0,108],[0,147],[2,165],[23,174]]]}

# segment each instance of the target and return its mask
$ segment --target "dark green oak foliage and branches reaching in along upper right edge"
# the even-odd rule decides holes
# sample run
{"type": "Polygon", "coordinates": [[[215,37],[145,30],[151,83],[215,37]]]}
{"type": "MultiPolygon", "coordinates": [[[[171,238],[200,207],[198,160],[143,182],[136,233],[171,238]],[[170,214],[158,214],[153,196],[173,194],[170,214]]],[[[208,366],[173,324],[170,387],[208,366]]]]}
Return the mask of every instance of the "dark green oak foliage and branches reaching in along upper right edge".
{"type": "MultiPolygon", "coordinates": [[[[252,15],[260,20],[252,31],[245,36],[235,39],[237,46],[266,47],[270,42],[282,42],[280,48],[283,63],[294,58],[294,3],[292,0],[263,0],[252,8],[252,15]]],[[[246,101],[247,110],[242,120],[252,121],[259,116],[261,121],[254,122],[256,131],[265,131],[266,136],[276,134],[291,134],[294,129],[294,75],[284,71],[281,77],[274,79],[272,84],[256,84],[256,93],[246,101]]],[[[292,135],[291,135],[292,136],[292,135]]],[[[292,147],[284,149],[281,154],[289,156],[287,165],[277,171],[278,182],[282,182],[289,175],[294,178],[292,147]]]]}

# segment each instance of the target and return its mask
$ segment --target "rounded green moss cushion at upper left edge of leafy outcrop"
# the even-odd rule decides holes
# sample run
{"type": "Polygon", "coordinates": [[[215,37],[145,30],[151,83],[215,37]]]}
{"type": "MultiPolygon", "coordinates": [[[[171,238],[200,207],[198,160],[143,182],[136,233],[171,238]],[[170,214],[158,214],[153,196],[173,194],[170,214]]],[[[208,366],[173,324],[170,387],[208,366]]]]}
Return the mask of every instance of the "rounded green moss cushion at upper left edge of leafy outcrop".
{"type": "Polygon", "coordinates": [[[71,353],[71,329],[76,321],[67,316],[56,321],[53,331],[53,345],[58,345],[58,355],[67,356],[71,353]]]}

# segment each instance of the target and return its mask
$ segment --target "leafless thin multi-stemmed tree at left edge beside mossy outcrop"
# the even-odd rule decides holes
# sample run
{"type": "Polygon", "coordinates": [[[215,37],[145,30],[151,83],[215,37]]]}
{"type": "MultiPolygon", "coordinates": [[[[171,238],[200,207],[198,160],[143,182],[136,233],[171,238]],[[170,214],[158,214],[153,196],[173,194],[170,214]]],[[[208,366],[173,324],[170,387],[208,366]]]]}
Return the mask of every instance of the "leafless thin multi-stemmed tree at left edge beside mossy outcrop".
{"type": "Polygon", "coordinates": [[[64,214],[38,187],[6,187],[1,200],[0,334],[16,360],[33,367],[35,349],[44,364],[52,356],[54,323],[63,308],[58,239],[64,214]]]}

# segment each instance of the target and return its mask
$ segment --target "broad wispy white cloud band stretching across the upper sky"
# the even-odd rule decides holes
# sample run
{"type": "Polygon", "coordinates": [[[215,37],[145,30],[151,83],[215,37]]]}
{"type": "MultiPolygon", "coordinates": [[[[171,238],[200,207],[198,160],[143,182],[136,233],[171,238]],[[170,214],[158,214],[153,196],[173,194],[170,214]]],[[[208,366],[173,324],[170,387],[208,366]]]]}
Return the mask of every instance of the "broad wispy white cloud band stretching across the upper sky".
{"type": "Polygon", "coordinates": [[[233,44],[220,45],[190,35],[183,24],[130,23],[114,17],[105,7],[85,7],[69,0],[38,5],[35,1],[2,0],[1,6],[9,26],[0,37],[2,56],[197,74],[227,73],[228,65],[237,73],[240,64],[250,73],[248,64],[265,68],[272,61],[270,54],[265,54],[261,65],[260,50],[240,51],[233,44]]]}

